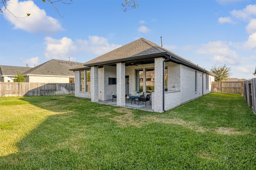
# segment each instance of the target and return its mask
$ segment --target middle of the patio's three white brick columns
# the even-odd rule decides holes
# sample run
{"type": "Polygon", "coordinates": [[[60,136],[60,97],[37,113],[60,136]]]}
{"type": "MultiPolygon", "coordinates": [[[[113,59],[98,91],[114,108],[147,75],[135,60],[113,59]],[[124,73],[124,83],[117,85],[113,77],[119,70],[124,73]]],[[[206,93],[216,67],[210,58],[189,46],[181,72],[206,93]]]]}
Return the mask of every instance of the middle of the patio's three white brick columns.
{"type": "Polygon", "coordinates": [[[116,106],[125,106],[125,63],[116,64],[116,106]]]}

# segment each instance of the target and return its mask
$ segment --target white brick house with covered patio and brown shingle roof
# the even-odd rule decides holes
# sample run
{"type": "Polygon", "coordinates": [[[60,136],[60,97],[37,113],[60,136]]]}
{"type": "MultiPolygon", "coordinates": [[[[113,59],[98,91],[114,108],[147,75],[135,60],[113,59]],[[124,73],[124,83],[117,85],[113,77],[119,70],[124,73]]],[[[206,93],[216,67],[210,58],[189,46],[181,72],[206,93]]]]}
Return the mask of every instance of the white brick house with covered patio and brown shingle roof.
{"type": "Polygon", "coordinates": [[[71,70],[75,72],[76,97],[98,102],[112,99],[111,92],[117,92],[117,106],[125,106],[124,97],[140,90],[140,80],[146,93],[146,80],[154,77],[152,110],[159,113],[210,93],[215,76],[144,38],[71,70]],[[86,88],[88,82],[90,89],[86,88]]]}

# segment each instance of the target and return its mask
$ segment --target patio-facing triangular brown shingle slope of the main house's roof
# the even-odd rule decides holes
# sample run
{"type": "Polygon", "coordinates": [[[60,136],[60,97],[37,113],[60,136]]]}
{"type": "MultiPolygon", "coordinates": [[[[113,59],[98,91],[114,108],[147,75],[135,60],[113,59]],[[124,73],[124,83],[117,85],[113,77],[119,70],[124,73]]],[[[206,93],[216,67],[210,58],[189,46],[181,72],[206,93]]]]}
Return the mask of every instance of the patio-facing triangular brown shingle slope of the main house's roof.
{"type": "Polygon", "coordinates": [[[92,66],[94,64],[107,63],[111,61],[115,62],[121,59],[130,60],[139,56],[152,54],[157,55],[165,52],[166,50],[160,46],[144,38],[140,38],[136,41],[133,41],[132,43],[126,44],[104,55],[101,55],[100,57],[92,59],[91,61],[84,63],[84,65],[92,66]]]}

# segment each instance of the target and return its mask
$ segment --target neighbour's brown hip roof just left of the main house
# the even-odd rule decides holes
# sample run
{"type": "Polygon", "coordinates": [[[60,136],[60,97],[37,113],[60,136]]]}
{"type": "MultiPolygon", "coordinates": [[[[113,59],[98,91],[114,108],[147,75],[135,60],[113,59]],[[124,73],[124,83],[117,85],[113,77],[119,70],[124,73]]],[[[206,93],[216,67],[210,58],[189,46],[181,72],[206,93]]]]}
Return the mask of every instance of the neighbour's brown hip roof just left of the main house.
{"type": "Polygon", "coordinates": [[[43,64],[35,66],[24,72],[24,76],[28,75],[47,75],[47,76],[74,76],[74,72],[70,69],[82,65],[82,63],[73,61],[63,61],[52,59],[43,64]]]}

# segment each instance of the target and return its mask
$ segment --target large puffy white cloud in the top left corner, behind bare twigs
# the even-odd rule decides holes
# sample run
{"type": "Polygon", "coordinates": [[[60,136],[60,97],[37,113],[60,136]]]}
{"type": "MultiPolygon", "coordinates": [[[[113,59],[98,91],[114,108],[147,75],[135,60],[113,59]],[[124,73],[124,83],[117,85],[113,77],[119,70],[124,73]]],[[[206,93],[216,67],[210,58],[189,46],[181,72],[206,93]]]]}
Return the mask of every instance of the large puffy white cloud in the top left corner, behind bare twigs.
{"type": "Polygon", "coordinates": [[[64,30],[58,20],[47,16],[32,0],[10,0],[6,7],[14,16],[20,17],[15,18],[7,10],[3,13],[4,18],[14,25],[14,29],[23,29],[30,33],[56,33],[64,30]],[[26,14],[30,16],[23,18],[26,14]]]}

